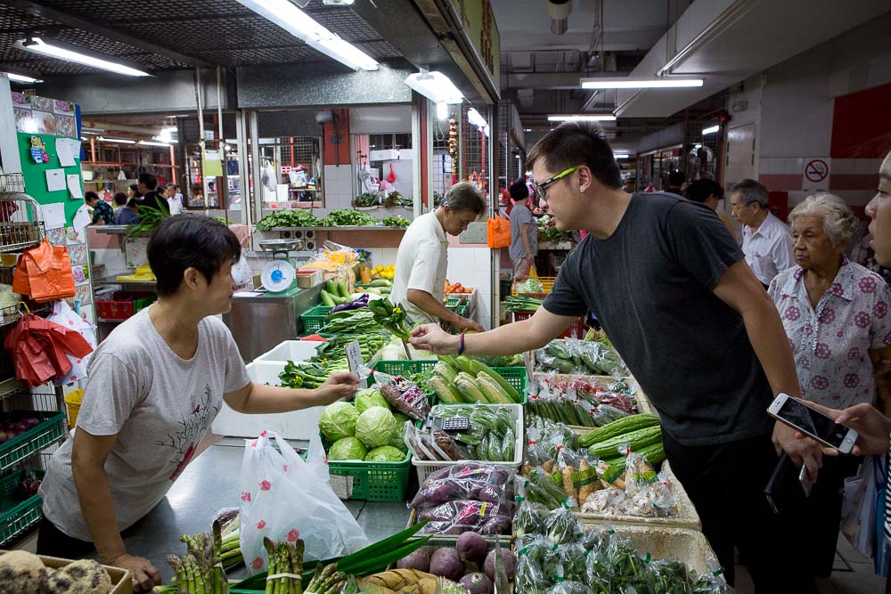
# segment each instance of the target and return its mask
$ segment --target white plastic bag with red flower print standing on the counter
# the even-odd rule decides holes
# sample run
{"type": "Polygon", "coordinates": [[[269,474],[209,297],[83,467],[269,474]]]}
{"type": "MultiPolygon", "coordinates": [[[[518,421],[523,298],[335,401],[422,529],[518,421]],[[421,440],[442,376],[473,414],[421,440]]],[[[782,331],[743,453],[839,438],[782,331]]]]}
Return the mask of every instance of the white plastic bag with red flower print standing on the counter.
{"type": "Polygon", "coordinates": [[[309,442],[307,461],[273,431],[246,440],[239,490],[241,555],[251,574],[267,566],[265,536],[273,541],[303,539],[307,561],[350,555],[369,544],[331,489],[318,435],[309,442]]]}

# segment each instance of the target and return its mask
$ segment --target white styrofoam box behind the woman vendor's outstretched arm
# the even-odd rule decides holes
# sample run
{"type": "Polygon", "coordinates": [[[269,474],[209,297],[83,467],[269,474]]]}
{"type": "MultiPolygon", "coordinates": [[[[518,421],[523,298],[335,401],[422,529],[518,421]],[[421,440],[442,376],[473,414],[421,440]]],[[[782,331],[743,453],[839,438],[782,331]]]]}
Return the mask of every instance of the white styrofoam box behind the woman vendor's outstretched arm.
{"type": "MultiPolygon", "coordinates": [[[[284,370],[285,364],[285,362],[262,361],[249,363],[248,377],[258,384],[278,386],[280,383],[279,374],[284,370]]],[[[214,419],[211,431],[216,435],[227,437],[257,437],[264,430],[271,429],[285,439],[308,441],[313,435],[319,433],[319,419],[322,418],[322,411],[324,411],[323,406],[314,406],[303,411],[246,415],[233,411],[226,403],[223,403],[223,409],[217,414],[217,419],[214,419]]]]}

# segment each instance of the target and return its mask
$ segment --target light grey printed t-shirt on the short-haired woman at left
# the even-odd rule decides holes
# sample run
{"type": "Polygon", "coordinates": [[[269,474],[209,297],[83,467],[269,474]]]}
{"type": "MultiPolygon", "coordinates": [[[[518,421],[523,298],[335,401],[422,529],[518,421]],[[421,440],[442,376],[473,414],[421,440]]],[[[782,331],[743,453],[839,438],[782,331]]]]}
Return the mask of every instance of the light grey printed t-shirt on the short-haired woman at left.
{"type": "MultiPolygon", "coordinates": [[[[222,321],[200,321],[198,350],[185,361],[155,330],[149,309],[122,323],[96,349],[78,414],[78,427],[87,433],[118,435],[105,472],[119,530],[164,498],[194,457],[223,395],[249,383],[238,346],[222,321]]],[[[40,495],[53,525],[93,541],[71,474],[73,441],[53,454],[40,495]]]]}

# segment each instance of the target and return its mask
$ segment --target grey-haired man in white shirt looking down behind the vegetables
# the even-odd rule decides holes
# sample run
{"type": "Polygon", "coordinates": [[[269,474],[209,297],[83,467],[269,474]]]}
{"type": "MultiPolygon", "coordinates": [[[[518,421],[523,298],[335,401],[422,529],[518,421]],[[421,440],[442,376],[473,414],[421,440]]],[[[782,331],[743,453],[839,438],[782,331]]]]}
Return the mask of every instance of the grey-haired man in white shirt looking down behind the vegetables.
{"type": "Polygon", "coordinates": [[[396,254],[396,278],[390,299],[411,321],[446,321],[459,330],[484,329],[443,305],[446,297],[446,233],[458,236],[486,209],[486,202],[470,182],[455,183],[432,213],[414,219],[405,230],[396,254]]]}

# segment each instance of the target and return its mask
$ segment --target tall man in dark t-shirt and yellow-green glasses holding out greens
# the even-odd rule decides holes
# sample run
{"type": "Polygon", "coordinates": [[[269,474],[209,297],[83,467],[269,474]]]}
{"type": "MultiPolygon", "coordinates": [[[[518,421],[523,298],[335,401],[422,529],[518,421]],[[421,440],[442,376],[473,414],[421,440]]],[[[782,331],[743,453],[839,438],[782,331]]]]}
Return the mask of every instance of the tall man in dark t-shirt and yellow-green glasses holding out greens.
{"type": "Polygon", "coordinates": [[[658,410],[671,468],[728,582],[736,546],[759,592],[815,591],[799,558],[797,526],[772,513],[764,486],[780,448],[812,476],[822,452],[766,413],[774,395],[799,394],[795,362],[739,245],[707,207],[674,194],[622,191],[613,151],[595,124],[562,124],[535,144],[528,162],[557,227],[591,234],[530,319],[457,336],[429,324],[413,330],[413,346],[520,353],[592,312],[658,410]]]}

